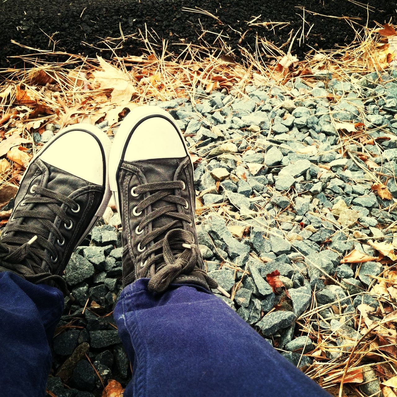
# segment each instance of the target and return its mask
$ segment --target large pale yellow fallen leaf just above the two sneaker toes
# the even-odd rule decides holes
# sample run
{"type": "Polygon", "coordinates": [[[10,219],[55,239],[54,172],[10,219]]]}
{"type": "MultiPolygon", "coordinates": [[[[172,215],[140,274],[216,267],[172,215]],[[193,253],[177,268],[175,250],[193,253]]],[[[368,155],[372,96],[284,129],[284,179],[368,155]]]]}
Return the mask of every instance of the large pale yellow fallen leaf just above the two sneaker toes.
{"type": "Polygon", "coordinates": [[[110,102],[112,104],[129,102],[136,90],[127,73],[109,64],[100,56],[98,56],[98,61],[103,70],[95,71],[93,75],[101,89],[112,90],[110,102]]]}

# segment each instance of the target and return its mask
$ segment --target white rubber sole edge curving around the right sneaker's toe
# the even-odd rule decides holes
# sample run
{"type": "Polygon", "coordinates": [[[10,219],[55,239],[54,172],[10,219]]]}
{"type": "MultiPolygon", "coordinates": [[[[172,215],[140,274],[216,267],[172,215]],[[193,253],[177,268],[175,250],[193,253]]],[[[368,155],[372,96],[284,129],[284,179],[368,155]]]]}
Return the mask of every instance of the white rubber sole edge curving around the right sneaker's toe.
{"type": "MultiPolygon", "coordinates": [[[[121,217],[121,209],[120,209],[120,197],[119,197],[119,187],[118,187],[118,173],[123,162],[123,155],[125,153],[125,149],[128,145],[129,139],[131,138],[134,129],[139,125],[139,123],[146,118],[159,116],[161,118],[168,119],[172,125],[175,127],[176,131],[183,142],[187,155],[189,155],[189,151],[187,150],[186,142],[183,137],[181,130],[175,123],[175,120],[161,108],[156,106],[139,106],[131,110],[131,112],[121,121],[120,126],[117,130],[116,137],[113,140],[112,148],[110,150],[110,159],[109,159],[109,183],[110,190],[112,191],[112,195],[114,198],[114,202],[116,203],[117,211],[121,217]]],[[[193,163],[192,168],[193,168],[193,163]]]]}

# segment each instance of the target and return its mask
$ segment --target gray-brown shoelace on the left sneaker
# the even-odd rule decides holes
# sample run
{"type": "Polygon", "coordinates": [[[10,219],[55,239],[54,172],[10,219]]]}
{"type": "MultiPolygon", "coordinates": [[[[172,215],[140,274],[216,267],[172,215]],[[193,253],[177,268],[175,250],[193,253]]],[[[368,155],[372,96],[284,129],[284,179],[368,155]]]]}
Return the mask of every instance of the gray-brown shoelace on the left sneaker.
{"type": "Polygon", "coordinates": [[[73,212],[79,212],[80,206],[65,195],[37,185],[31,187],[30,193],[37,193],[37,195],[23,199],[10,219],[11,223],[7,227],[7,232],[1,236],[0,258],[2,263],[0,266],[21,274],[33,283],[52,280],[61,291],[69,295],[65,280],[56,274],[44,272],[42,261],[44,260],[50,269],[58,262],[54,245],[48,241],[48,235],[51,232],[55,234],[59,246],[62,247],[65,244],[62,233],[53,223],[54,218],[58,216],[66,229],[73,227],[72,220],[66,214],[66,208],[61,208],[62,204],[66,204],[73,212]],[[45,204],[48,211],[36,210],[34,206],[32,209],[25,209],[24,207],[28,204],[45,204]],[[13,224],[12,221],[17,218],[34,218],[37,225],[33,227],[26,224],[13,224]],[[11,231],[15,232],[13,236],[9,235],[11,231]],[[23,233],[22,237],[19,235],[21,232],[23,233]],[[33,238],[27,241],[29,237],[26,235],[33,235],[33,238]]]}

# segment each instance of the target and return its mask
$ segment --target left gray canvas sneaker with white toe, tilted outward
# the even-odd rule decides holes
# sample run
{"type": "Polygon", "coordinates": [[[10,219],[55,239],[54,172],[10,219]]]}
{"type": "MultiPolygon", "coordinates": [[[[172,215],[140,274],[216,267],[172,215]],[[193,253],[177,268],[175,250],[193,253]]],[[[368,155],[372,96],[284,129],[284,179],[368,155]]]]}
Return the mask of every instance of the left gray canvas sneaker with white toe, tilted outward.
{"type": "Polygon", "coordinates": [[[40,150],[0,236],[0,271],[67,293],[66,264],[109,202],[109,153],[107,135],[89,124],[67,127],[40,150]]]}

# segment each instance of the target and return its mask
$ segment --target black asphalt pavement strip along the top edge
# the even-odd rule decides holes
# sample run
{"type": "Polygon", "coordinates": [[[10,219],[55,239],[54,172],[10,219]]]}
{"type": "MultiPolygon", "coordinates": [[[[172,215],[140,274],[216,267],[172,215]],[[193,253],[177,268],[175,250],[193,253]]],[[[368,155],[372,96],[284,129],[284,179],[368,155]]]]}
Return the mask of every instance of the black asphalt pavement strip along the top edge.
{"type": "MultiPolygon", "coordinates": [[[[311,48],[351,42],[355,33],[350,24],[365,24],[367,16],[369,26],[390,18],[397,23],[396,8],[393,0],[1,0],[0,66],[15,64],[10,56],[32,52],[11,40],[109,58],[112,52],[103,39],[118,38],[120,32],[137,36],[139,31],[147,31],[160,46],[162,38],[168,40],[175,53],[183,48],[181,43],[191,42],[226,46],[236,56],[240,47],[254,51],[257,35],[276,46],[296,35],[292,52],[302,58],[311,48]]],[[[114,40],[112,46],[121,56],[141,55],[141,44],[132,38],[114,40]]]]}

